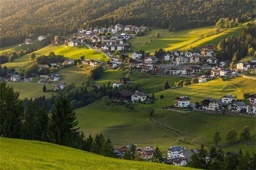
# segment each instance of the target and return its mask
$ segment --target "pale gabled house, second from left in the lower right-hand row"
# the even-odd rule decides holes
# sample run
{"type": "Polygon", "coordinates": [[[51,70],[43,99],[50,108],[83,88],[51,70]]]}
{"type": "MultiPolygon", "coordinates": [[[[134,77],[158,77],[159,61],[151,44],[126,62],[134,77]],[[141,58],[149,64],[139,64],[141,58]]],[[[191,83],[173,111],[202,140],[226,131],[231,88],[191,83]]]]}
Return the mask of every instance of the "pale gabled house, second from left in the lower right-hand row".
{"type": "Polygon", "coordinates": [[[222,109],[222,102],[218,99],[213,99],[212,97],[209,97],[202,102],[203,109],[207,111],[218,111],[222,109]]]}

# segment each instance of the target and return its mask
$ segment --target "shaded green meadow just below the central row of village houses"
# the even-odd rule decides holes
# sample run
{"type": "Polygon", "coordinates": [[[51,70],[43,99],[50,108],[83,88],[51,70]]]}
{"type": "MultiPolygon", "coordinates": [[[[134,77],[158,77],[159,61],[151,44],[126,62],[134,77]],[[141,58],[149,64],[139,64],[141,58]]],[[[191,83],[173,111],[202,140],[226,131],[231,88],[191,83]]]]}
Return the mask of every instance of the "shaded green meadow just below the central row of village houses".
{"type": "MultiPolygon", "coordinates": [[[[106,70],[100,79],[96,80],[96,84],[108,84],[108,82],[119,82],[119,79],[126,77],[127,71],[106,70]]],[[[164,83],[168,82],[170,86],[174,86],[174,82],[188,79],[181,76],[153,76],[148,73],[139,71],[131,71],[130,79],[135,84],[141,84],[142,91],[147,93],[162,91],[164,83]]]]}

